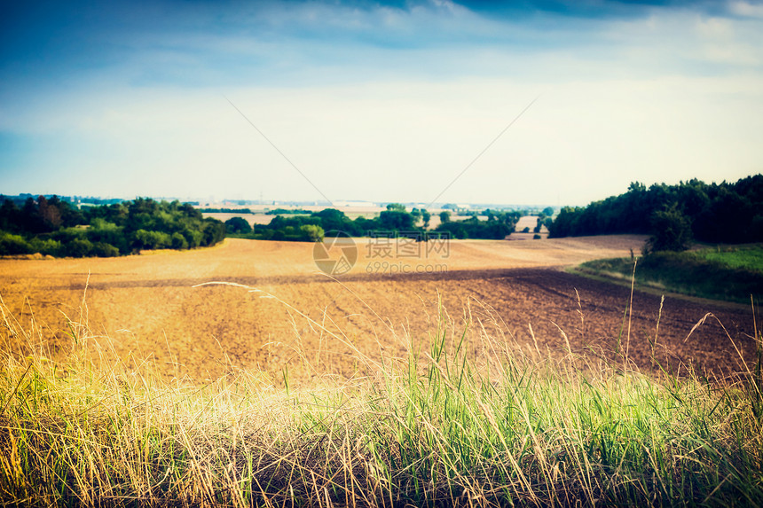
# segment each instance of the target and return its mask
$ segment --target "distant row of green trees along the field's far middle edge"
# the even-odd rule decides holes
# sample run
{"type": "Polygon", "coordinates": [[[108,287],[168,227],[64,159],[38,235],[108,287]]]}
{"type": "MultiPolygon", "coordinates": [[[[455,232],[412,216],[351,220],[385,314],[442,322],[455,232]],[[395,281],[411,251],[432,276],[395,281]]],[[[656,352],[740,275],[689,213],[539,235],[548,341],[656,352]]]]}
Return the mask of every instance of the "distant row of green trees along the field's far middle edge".
{"type": "Polygon", "coordinates": [[[440,224],[428,231],[431,214],[424,209],[413,208],[410,212],[405,206],[391,203],[378,217],[358,216],[350,219],[341,210],[326,208],[309,215],[284,217],[277,215],[268,224],[255,224],[254,227],[241,217],[233,217],[225,222],[229,234],[242,238],[265,240],[317,241],[326,231],[343,231],[350,236],[369,235],[424,235],[448,236],[449,238],[488,238],[503,239],[515,230],[515,225],[522,215],[520,212],[491,211],[484,212],[487,221],[479,220],[476,215],[462,221],[452,221],[449,212],[440,214],[440,224]]]}

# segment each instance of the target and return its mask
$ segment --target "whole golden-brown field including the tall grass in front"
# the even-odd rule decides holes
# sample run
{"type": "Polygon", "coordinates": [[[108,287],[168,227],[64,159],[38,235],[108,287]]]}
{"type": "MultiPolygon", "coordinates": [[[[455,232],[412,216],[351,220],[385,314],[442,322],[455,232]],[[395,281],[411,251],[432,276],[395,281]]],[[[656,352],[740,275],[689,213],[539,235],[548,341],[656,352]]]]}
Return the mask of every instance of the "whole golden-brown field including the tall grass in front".
{"type": "Polygon", "coordinates": [[[3,260],[0,505],[759,506],[751,309],[563,270],[643,240],[3,260]]]}

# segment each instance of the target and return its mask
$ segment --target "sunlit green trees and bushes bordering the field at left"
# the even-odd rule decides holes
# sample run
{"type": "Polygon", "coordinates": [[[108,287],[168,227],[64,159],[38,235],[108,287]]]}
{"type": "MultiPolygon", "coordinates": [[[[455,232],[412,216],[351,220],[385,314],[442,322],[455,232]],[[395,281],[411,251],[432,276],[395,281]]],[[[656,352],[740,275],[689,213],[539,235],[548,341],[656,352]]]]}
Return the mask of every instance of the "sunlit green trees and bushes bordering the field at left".
{"type": "Polygon", "coordinates": [[[211,246],[225,237],[222,222],[177,200],[138,198],[81,210],[57,196],[29,197],[21,206],[0,199],[0,255],[111,257],[211,246]]]}

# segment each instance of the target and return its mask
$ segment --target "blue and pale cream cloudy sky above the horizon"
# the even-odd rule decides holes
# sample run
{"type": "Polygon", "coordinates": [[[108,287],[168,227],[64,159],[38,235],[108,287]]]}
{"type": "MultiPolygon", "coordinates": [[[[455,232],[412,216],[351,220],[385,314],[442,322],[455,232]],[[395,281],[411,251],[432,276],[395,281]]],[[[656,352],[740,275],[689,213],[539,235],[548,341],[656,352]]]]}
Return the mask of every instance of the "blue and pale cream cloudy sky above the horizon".
{"type": "Polygon", "coordinates": [[[763,2],[4,2],[0,193],[586,205],[763,172],[763,2]]]}

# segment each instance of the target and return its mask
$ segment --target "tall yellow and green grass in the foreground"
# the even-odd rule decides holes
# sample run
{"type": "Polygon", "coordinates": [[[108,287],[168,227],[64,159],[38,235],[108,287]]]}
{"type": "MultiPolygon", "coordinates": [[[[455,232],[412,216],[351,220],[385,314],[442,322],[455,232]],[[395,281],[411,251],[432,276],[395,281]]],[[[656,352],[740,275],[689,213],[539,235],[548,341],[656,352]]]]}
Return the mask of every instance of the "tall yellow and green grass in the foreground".
{"type": "Polygon", "coordinates": [[[426,348],[277,389],[162,379],[75,322],[53,362],[43,328],[3,317],[4,505],[763,505],[760,355],[734,379],[649,377],[441,312],[426,348]]]}

